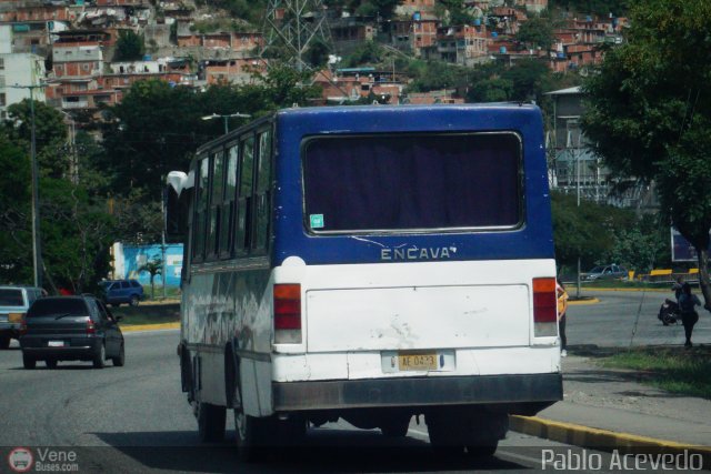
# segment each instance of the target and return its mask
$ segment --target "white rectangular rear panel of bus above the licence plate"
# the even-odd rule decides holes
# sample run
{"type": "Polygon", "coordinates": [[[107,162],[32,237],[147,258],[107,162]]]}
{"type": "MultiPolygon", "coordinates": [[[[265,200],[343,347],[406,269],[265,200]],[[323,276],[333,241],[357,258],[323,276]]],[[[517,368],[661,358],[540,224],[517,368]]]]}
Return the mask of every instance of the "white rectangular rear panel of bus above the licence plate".
{"type": "Polygon", "coordinates": [[[523,284],[307,291],[307,351],[528,346],[523,284]]]}

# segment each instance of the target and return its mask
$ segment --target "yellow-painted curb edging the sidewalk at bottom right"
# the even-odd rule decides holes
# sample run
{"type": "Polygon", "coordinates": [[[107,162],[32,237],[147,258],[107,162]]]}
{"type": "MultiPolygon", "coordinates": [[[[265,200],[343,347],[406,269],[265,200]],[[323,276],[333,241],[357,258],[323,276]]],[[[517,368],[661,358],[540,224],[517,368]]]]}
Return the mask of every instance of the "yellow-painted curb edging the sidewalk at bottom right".
{"type": "Polygon", "coordinates": [[[711,447],[694,446],[673,441],[657,440],[629,433],[618,433],[572,423],[555,422],[538,416],[509,416],[512,431],[599,451],[617,450],[624,454],[651,451],[661,454],[700,454],[705,468],[711,466],[711,447]]]}

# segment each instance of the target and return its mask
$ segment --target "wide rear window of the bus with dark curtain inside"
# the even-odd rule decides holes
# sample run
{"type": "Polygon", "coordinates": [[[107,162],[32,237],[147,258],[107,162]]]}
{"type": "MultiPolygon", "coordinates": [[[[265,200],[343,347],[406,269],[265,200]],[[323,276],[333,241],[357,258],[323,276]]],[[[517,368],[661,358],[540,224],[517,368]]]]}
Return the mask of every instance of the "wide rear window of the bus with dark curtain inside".
{"type": "Polygon", "coordinates": [[[514,133],[312,139],[306,224],[317,233],[515,228],[520,170],[514,133]]]}

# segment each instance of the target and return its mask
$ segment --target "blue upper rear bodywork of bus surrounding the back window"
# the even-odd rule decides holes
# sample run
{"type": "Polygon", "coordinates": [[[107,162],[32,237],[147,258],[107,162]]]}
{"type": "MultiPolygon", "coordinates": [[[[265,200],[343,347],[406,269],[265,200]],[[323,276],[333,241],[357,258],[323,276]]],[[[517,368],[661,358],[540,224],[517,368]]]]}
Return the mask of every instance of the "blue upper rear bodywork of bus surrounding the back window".
{"type": "Polygon", "coordinates": [[[277,114],[276,150],[273,265],[280,265],[291,255],[301,258],[307,264],[383,263],[383,258],[398,261],[394,249],[402,249],[399,255],[404,253],[403,261],[553,258],[543,128],[535,105],[289,109],[277,114]],[[477,132],[514,132],[521,138],[522,224],[515,229],[370,234],[321,234],[309,230],[303,198],[302,147],[306,141],[319,137],[361,134],[477,132]]]}

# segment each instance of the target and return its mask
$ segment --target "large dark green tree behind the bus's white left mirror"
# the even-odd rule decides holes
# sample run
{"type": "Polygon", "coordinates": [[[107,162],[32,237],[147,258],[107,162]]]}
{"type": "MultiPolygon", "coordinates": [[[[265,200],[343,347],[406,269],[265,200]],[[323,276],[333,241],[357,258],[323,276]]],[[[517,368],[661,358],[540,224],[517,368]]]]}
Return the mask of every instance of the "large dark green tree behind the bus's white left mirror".
{"type": "MultiPolygon", "coordinates": [[[[253,119],[279,108],[308,105],[320,89],[308,85],[310,73],[274,63],[260,82],[212,85],[196,93],[152,80],[132,84],[123,101],[106,110],[104,155],[98,167],[111,180],[114,215],[122,240],[154,241],[160,232],[163,180],[171,170],[187,170],[194,151],[223,133],[222,119],[203,117],[234,112],[253,119]]],[[[229,119],[230,130],[249,119],[229,119]]]]}

